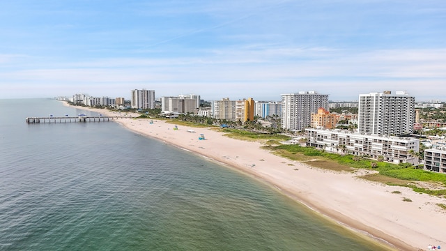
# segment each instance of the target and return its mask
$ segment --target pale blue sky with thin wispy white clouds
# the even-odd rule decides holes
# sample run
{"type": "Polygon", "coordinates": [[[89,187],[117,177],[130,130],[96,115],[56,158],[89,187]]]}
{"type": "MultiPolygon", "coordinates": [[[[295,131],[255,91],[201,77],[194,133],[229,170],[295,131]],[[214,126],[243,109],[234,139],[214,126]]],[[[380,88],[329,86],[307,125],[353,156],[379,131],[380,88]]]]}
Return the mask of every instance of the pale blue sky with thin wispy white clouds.
{"type": "Polygon", "coordinates": [[[0,1],[0,98],[132,89],[446,101],[446,1],[0,1]]]}

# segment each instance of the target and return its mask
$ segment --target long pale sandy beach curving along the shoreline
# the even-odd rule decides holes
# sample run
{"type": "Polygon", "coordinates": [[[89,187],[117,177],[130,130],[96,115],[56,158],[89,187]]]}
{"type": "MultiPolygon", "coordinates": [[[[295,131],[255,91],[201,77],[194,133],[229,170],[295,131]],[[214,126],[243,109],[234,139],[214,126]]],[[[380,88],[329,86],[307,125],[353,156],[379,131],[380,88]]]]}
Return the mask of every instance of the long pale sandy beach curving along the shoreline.
{"type": "MultiPolygon", "coordinates": [[[[90,109],[116,115],[105,109],[90,109]]],[[[137,114],[136,114],[137,115],[137,114]]],[[[259,142],[225,137],[210,128],[189,128],[153,119],[118,119],[125,128],[235,167],[274,185],[327,218],[396,250],[446,248],[446,199],[410,188],[365,181],[364,171],[330,172],[261,149],[259,142]],[[188,130],[194,130],[190,132],[188,130]],[[199,140],[203,134],[205,140],[199,140]],[[399,191],[401,193],[395,193],[399,191]],[[408,198],[411,201],[403,201],[408,198]]]]}

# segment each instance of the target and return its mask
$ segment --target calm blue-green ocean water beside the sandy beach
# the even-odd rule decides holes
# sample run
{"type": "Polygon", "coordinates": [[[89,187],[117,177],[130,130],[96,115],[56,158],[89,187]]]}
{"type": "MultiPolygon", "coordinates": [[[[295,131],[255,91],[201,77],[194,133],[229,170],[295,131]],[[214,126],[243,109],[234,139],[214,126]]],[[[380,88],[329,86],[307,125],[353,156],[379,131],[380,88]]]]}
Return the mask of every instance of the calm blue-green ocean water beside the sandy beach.
{"type": "MultiPolygon", "coordinates": [[[[0,250],[382,250],[271,185],[86,113],[0,100],[0,250]]],[[[328,195],[329,196],[329,195],[328,195]]]]}

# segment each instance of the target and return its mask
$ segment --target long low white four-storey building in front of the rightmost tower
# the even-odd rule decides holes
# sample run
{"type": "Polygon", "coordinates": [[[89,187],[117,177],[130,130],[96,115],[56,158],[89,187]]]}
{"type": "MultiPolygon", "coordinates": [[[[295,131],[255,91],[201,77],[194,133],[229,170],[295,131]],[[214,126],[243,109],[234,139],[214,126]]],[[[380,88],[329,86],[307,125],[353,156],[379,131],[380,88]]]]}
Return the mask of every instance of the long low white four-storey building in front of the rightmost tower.
{"type": "Polygon", "coordinates": [[[417,157],[410,155],[409,151],[420,151],[420,140],[413,137],[367,135],[339,129],[307,128],[305,131],[307,146],[332,153],[365,155],[374,160],[383,156],[383,160],[387,162],[414,164],[417,157]]]}

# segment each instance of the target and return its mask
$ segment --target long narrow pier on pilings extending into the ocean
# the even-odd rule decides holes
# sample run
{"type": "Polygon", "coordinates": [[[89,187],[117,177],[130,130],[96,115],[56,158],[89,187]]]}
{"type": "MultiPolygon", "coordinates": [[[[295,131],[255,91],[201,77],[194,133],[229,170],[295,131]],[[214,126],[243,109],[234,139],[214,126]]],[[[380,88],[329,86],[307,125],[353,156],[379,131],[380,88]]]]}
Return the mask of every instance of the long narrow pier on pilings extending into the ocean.
{"type": "Polygon", "coordinates": [[[26,123],[75,123],[75,122],[107,122],[116,119],[133,119],[133,116],[47,116],[27,117],[26,123]]]}

